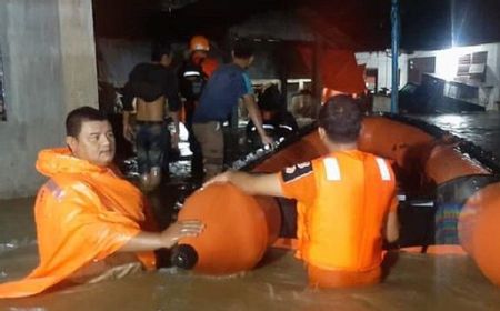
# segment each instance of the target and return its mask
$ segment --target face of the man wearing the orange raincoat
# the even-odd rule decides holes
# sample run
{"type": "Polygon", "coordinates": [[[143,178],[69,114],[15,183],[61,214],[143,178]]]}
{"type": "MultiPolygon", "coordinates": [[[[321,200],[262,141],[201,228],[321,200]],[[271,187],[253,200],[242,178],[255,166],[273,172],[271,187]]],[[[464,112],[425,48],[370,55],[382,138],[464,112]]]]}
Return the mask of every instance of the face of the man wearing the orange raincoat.
{"type": "Polygon", "coordinates": [[[83,121],[77,138],[67,137],[74,157],[106,167],[114,158],[114,134],[108,121],[83,121]]]}

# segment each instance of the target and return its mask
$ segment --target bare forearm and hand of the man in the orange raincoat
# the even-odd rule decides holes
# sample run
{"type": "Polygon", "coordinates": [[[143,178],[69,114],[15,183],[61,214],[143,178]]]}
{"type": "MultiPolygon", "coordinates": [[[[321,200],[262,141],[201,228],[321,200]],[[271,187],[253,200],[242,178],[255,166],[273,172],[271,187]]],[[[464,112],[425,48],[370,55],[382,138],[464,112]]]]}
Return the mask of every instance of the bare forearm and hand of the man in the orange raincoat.
{"type": "Polygon", "coordinates": [[[203,224],[198,220],[184,220],[172,223],[163,232],[141,231],[131,238],[119,252],[151,251],[161,248],[171,248],[180,239],[186,237],[198,237],[203,231],[203,224]]]}

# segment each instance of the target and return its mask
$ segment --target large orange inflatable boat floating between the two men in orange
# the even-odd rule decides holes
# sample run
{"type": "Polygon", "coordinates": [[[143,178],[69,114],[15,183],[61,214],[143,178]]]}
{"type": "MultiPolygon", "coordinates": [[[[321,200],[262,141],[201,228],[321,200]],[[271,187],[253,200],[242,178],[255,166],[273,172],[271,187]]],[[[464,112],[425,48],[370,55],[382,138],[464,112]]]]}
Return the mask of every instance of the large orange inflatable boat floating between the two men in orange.
{"type": "MultiPolygon", "coordinates": [[[[393,163],[401,192],[401,247],[419,247],[421,252],[434,245],[462,247],[500,285],[500,244],[491,240],[500,235],[500,169],[484,151],[436,127],[396,116],[366,118],[359,147],[393,163]]],[[[237,168],[276,172],[326,152],[311,126],[237,168]]],[[[173,263],[206,274],[252,269],[278,235],[293,238],[293,228],[283,232],[294,223],[289,212],[293,209],[284,207],[290,204],[253,198],[229,184],[198,190],[179,219],[201,219],[207,228],[197,239],[182,241],[173,263]]]]}

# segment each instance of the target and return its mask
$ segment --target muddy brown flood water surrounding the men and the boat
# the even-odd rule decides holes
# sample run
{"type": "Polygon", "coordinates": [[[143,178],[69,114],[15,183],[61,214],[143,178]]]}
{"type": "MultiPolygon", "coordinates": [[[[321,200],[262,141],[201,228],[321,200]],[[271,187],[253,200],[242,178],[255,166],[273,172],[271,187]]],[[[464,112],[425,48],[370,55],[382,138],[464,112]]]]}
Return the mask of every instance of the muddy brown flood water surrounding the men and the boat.
{"type": "MultiPolygon", "coordinates": [[[[414,118],[473,141],[497,159],[500,156],[499,113],[414,118]]],[[[179,161],[171,169],[172,177],[149,194],[163,227],[174,218],[179,198],[192,191],[189,162],[179,161]]],[[[0,201],[0,282],[19,279],[37,265],[32,207],[32,198],[0,201]]],[[[0,310],[500,310],[500,288],[467,255],[394,252],[390,258],[384,282],[361,289],[308,289],[302,264],[292,253],[271,249],[244,275],[213,278],[163,269],[0,300],[0,310]]]]}

